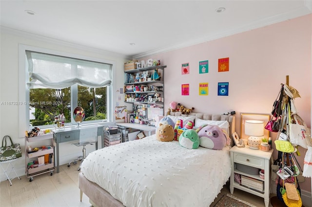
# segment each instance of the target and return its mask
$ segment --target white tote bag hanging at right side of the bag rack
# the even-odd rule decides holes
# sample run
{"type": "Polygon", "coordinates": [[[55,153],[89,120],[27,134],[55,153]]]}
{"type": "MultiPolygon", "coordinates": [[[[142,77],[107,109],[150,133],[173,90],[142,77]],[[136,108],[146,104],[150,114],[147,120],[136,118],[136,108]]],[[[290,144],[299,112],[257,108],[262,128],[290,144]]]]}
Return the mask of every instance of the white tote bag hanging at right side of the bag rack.
{"type": "Polygon", "coordinates": [[[301,117],[297,114],[292,115],[294,123],[290,121],[289,127],[289,138],[291,143],[296,146],[299,145],[303,148],[308,149],[307,139],[311,138],[310,129],[307,127],[305,122],[301,119],[301,117]]]}

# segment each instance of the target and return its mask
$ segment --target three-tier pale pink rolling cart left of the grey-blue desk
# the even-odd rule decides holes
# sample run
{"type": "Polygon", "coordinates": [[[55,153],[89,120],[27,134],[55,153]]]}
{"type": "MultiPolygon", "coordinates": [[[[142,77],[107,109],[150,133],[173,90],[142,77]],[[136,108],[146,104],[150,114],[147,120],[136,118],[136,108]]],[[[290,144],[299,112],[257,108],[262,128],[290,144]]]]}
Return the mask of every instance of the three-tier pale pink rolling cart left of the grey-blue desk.
{"type": "Polygon", "coordinates": [[[25,136],[25,173],[26,177],[29,177],[29,182],[33,181],[33,177],[39,174],[50,173],[51,176],[53,175],[55,170],[53,144],[53,133],[35,137],[25,136]],[[39,143],[36,143],[46,139],[50,139],[49,145],[40,146],[39,143]],[[30,146],[32,147],[31,151],[28,149],[30,146]],[[35,148],[38,148],[38,151],[35,148]]]}

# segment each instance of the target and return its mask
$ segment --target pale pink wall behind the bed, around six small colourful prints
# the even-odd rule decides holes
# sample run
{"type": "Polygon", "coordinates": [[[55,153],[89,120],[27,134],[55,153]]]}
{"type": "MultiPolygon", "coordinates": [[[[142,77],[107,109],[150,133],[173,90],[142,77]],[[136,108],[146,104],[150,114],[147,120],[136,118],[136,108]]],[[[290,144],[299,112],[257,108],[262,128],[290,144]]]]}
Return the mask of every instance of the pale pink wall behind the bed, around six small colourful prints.
{"type": "MultiPolygon", "coordinates": [[[[281,83],[289,75],[290,85],[301,98],[295,100],[299,115],[311,127],[312,15],[298,17],[252,31],[231,35],[170,52],[140,58],[160,59],[165,68],[165,111],[171,101],[195,112],[236,111],[240,114],[270,114],[281,83]],[[230,71],[217,72],[218,58],[230,58],[230,71]],[[199,74],[198,62],[209,60],[209,73],[199,74]],[[181,64],[190,63],[190,74],[181,75],[181,64]],[[209,95],[198,95],[198,83],[209,83],[209,95]],[[217,96],[217,83],[229,82],[229,96],[217,96]],[[181,84],[190,84],[190,95],[181,96],[181,84]]],[[[271,134],[273,140],[276,133],[271,134]]],[[[273,144],[274,147],[274,144],[273,144]]],[[[304,148],[297,157],[303,168],[304,148]]],[[[276,159],[277,152],[274,152],[276,159]]],[[[300,183],[311,192],[311,180],[300,183]]]]}

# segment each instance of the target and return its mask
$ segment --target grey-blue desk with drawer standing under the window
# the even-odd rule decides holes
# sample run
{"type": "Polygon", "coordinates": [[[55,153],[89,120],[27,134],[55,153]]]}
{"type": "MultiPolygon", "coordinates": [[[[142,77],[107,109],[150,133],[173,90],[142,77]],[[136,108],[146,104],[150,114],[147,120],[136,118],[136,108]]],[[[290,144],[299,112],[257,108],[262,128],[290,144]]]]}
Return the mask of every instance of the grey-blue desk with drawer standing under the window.
{"type": "MultiPolygon", "coordinates": [[[[104,143],[104,135],[103,135],[103,128],[104,126],[99,124],[90,124],[90,125],[80,125],[77,126],[71,126],[71,127],[65,127],[60,129],[52,129],[51,131],[54,133],[54,140],[56,142],[56,167],[57,167],[57,173],[59,173],[59,143],[68,142],[68,141],[75,141],[79,140],[80,135],[80,129],[83,129],[83,127],[96,127],[98,126],[98,136],[101,136],[101,143],[104,143]]],[[[98,149],[98,142],[96,142],[96,149],[98,149]]]]}

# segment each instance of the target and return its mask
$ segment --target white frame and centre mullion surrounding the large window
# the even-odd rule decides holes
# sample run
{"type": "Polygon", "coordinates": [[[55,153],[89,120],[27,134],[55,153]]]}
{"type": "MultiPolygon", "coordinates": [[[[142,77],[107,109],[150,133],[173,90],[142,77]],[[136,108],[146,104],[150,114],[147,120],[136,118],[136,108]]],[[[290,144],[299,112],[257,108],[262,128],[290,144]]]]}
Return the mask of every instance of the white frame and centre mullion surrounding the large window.
{"type": "MultiPolygon", "coordinates": [[[[32,127],[30,127],[30,121],[29,121],[29,91],[30,89],[27,86],[27,83],[29,81],[29,74],[26,70],[26,50],[28,51],[34,51],[34,52],[43,52],[43,53],[49,53],[54,55],[60,55],[60,56],[66,56],[66,57],[72,57],[72,58],[78,58],[83,60],[90,60],[90,61],[96,61],[106,64],[112,65],[112,83],[110,86],[107,87],[107,111],[106,111],[106,120],[94,120],[94,121],[83,121],[82,124],[88,124],[88,123],[109,123],[113,121],[113,84],[114,84],[114,71],[116,68],[116,63],[114,61],[106,60],[106,59],[100,59],[100,58],[94,58],[90,56],[83,56],[78,54],[73,54],[69,52],[60,52],[60,51],[54,51],[44,48],[38,48],[28,45],[19,45],[19,129],[20,129],[20,137],[23,137],[25,135],[25,130],[30,130],[32,127]],[[23,113],[24,112],[24,113],[23,113]],[[25,129],[25,130],[22,130],[25,129]]],[[[78,86],[73,85],[71,86],[71,122],[66,123],[66,126],[71,125],[77,125],[77,123],[73,119],[72,110],[77,106],[78,103],[78,86]],[[75,95],[76,94],[76,95],[75,95]],[[76,98],[75,98],[76,96],[76,98]]],[[[53,125],[42,125],[39,126],[41,128],[54,128],[53,125]]]]}

